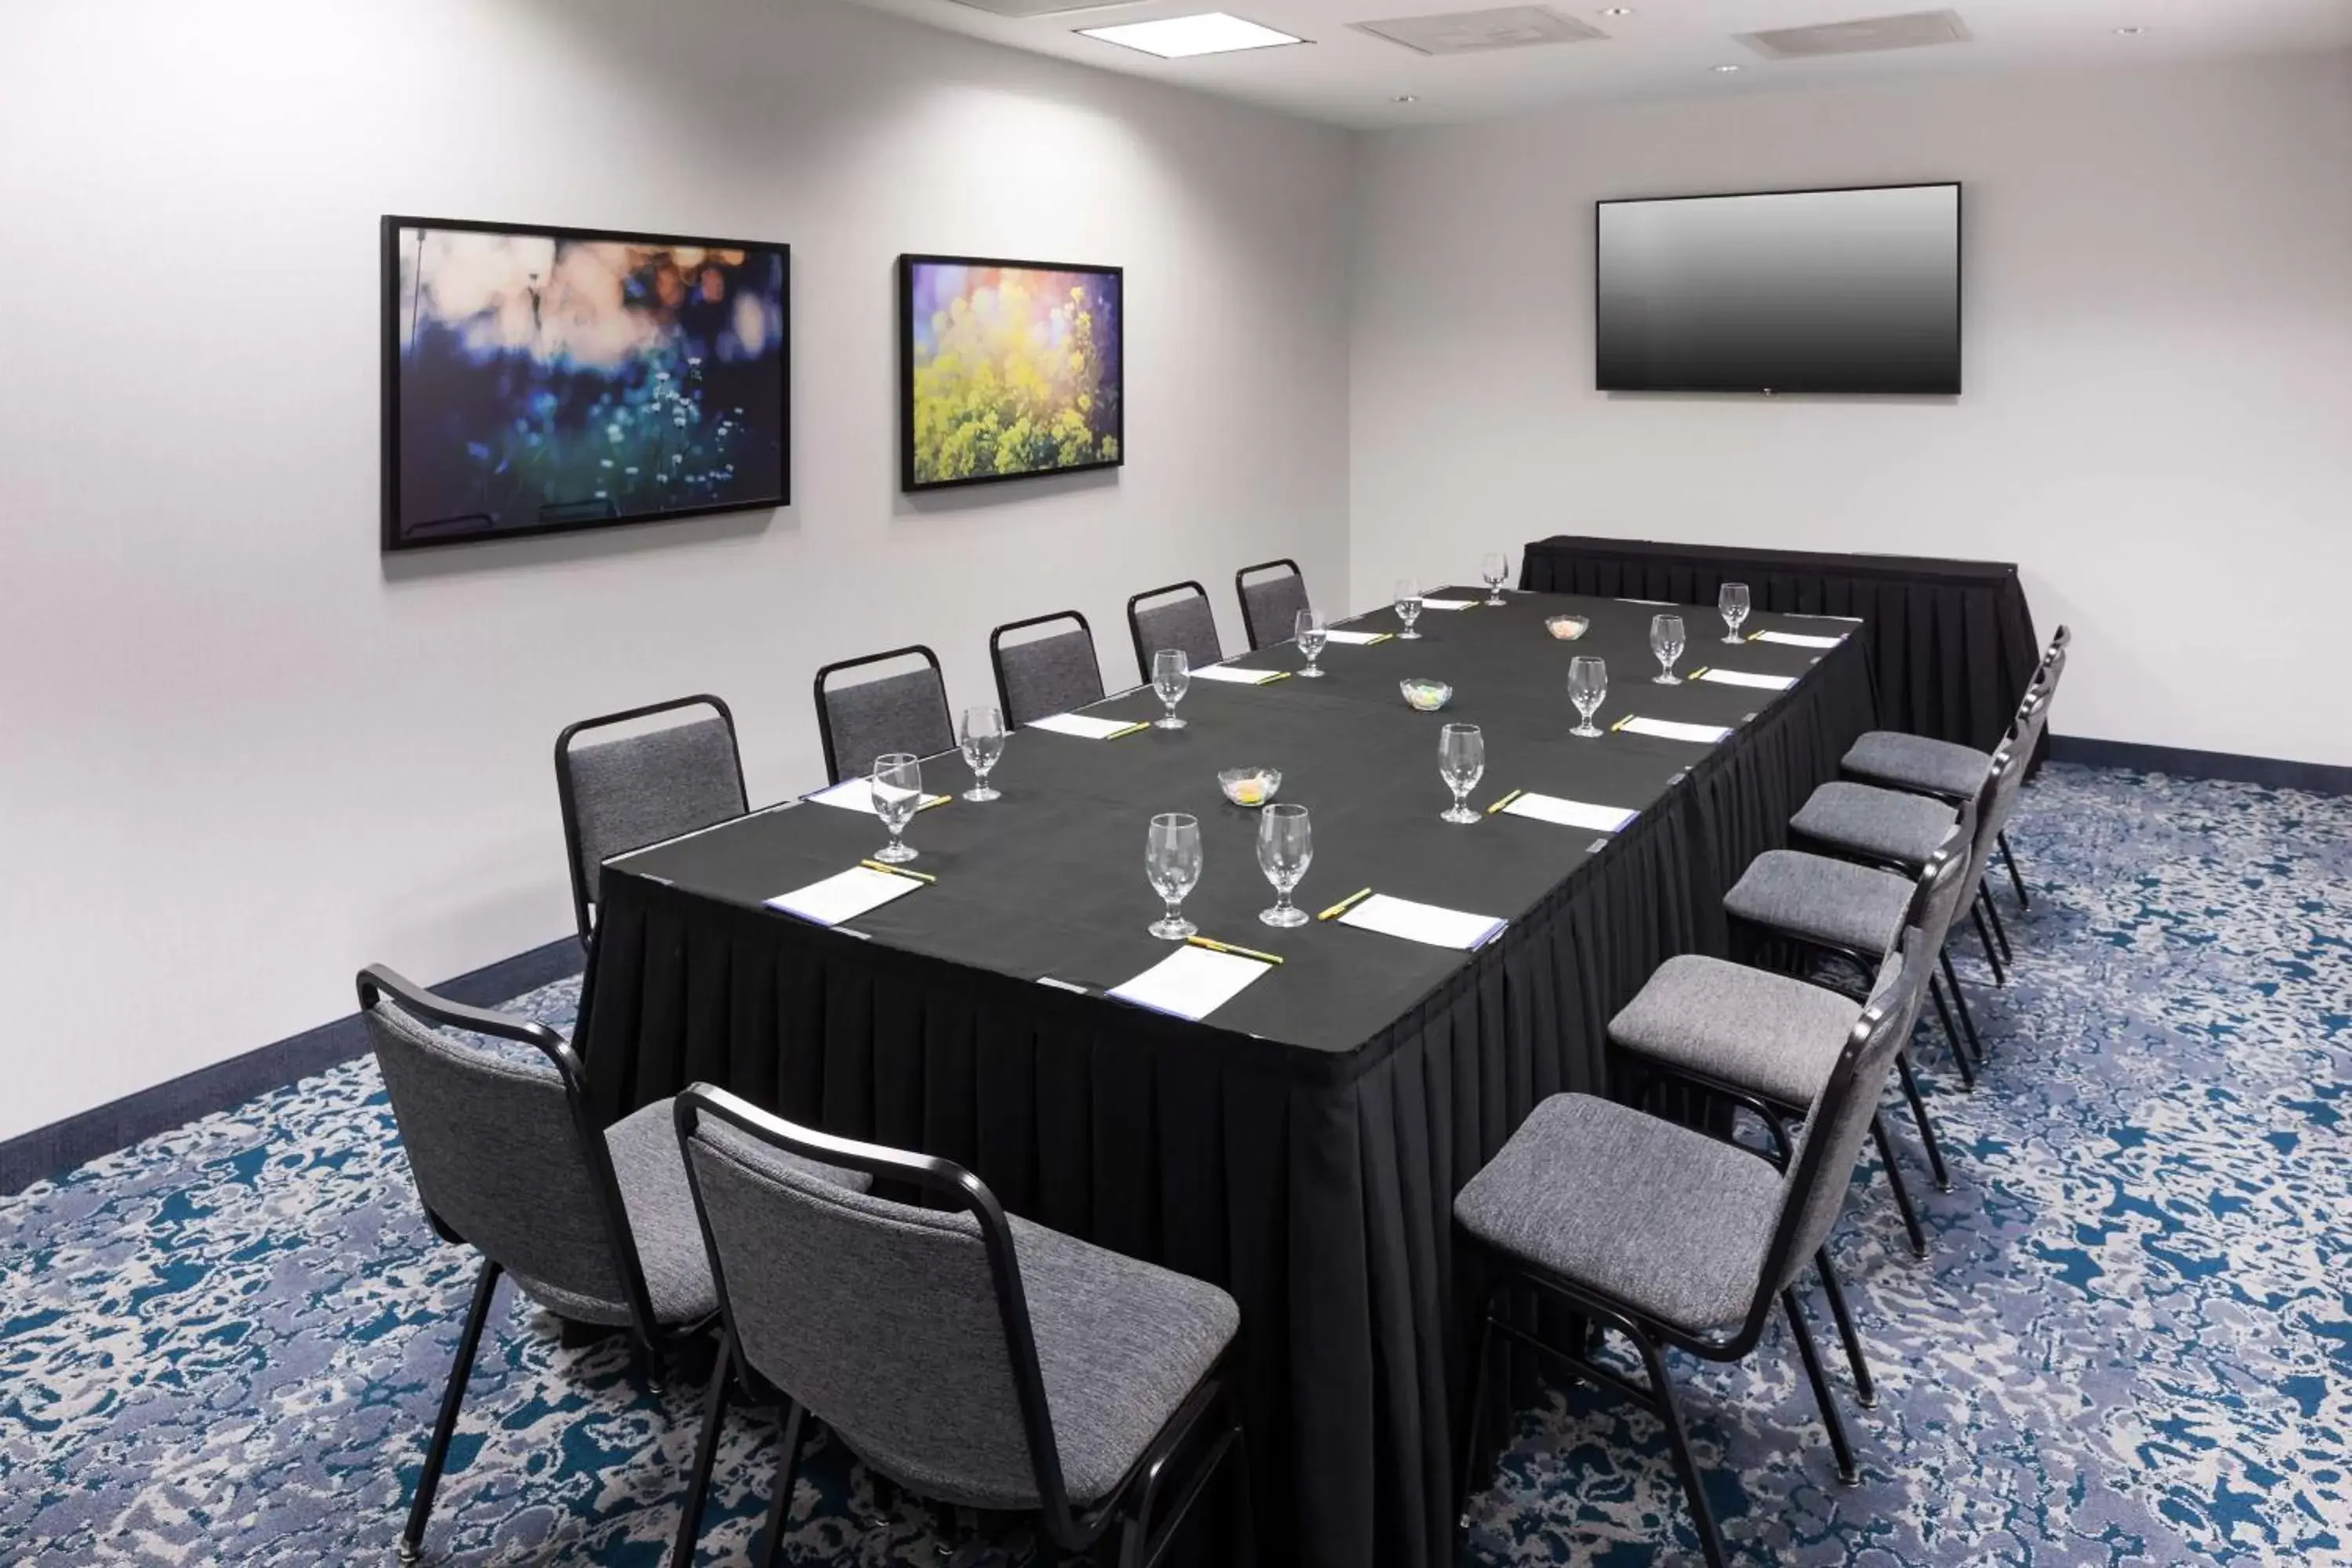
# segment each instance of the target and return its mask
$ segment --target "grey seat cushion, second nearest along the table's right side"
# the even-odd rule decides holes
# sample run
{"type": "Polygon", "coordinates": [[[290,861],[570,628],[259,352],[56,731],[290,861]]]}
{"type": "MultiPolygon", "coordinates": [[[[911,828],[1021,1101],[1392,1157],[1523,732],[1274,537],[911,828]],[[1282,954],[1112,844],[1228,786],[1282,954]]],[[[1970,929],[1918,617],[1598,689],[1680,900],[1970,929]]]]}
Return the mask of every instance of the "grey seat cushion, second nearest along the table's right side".
{"type": "Polygon", "coordinates": [[[1832,990],[1682,954],[1609,1020],[1609,1044],[1804,1114],[1860,1016],[1832,990]]]}

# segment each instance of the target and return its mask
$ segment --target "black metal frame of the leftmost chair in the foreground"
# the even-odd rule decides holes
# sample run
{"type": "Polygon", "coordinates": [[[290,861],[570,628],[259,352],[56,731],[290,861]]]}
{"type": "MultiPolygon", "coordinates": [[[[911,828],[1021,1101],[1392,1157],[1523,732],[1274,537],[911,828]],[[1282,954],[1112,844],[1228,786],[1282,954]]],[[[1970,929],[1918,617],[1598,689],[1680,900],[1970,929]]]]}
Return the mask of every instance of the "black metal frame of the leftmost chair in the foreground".
{"type": "MultiPolygon", "coordinates": [[[[588,1161],[597,1197],[602,1199],[604,1239],[612,1246],[614,1262],[619,1265],[621,1295],[628,1305],[628,1338],[637,1356],[659,1380],[663,1354],[670,1347],[703,1333],[710,1319],[706,1316],[675,1328],[663,1328],[656,1321],[654,1302],[644,1288],[644,1265],[637,1260],[637,1241],[628,1227],[628,1208],[621,1201],[621,1182],[612,1173],[612,1152],[604,1147],[604,1131],[588,1112],[588,1095],[581,1093],[581,1063],[572,1046],[564,1044],[564,1037],[543,1023],[508,1018],[506,1013],[492,1013],[487,1009],[449,1001],[447,997],[435,997],[414,980],[407,980],[381,964],[369,964],[360,971],[358,992],[362,1013],[390,997],[390,1001],[412,1018],[447,1030],[470,1030],[475,1034],[534,1046],[548,1058],[548,1063],[555,1065],[555,1074],[564,1086],[564,1103],[572,1107],[572,1126],[579,1133],[581,1157],[588,1161]]],[[[423,1201],[423,1194],[419,1194],[419,1206],[426,1211],[426,1222],[433,1227],[433,1234],[442,1241],[473,1246],[473,1241],[461,1237],[433,1211],[430,1204],[423,1201]]],[[[473,1302],[466,1307],[466,1328],[459,1333],[456,1356],[449,1363],[449,1382],[442,1389],[440,1415],[433,1420],[433,1441],[426,1446],[426,1462],[416,1474],[416,1495],[409,1502],[409,1521],[400,1533],[402,1563],[414,1563],[423,1552],[426,1523],[433,1516],[433,1495],[440,1490],[442,1467],[449,1460],[449,1439],[456,1434],[456,1415],[466,1403],[466,1382],[473,1378],[473,1359],[482,1347],[482,1326],[489,1321],[489,1302],[499,1293],[501,1272],[503,1267],[499,1260],[485,1253],[482,1272],[473,1281],[473,1302]]]]}

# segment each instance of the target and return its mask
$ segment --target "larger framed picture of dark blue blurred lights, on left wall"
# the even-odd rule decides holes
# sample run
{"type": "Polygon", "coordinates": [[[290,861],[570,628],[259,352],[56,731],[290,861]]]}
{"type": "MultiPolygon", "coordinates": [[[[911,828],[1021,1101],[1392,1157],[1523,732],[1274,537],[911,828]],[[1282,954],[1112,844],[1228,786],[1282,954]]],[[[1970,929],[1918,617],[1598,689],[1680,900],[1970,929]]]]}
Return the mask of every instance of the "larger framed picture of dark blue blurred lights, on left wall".
{"type": "Polygon", "coordinates": [[[783,244],[383,219],[383,548],[790,501],[783,244]]]}

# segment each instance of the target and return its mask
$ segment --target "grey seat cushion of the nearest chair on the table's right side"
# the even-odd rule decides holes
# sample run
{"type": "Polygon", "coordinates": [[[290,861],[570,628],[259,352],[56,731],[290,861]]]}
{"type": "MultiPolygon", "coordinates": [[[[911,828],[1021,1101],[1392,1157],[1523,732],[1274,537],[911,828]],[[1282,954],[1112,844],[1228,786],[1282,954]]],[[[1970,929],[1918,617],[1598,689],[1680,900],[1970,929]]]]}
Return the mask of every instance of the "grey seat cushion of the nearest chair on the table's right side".
{"type": "Polygon", "coordinates": [[[1484,1246],[1684,1333],[1738,1324],[1780,1218],[1780,1173],[1592,1095],[1552,1095],[1454,1199],[1484,1246]]]}

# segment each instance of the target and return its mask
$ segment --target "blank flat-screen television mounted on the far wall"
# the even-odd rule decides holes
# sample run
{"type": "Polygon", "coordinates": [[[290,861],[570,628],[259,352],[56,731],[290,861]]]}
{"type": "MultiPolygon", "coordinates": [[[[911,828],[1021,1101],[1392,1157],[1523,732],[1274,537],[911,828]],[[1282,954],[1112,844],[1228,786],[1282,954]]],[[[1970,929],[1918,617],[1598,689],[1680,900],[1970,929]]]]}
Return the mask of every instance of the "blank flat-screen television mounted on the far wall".
{"type": "Polygon", "coordinates": [[[1959,393],[1959,186],[1595,202],[1604,393],[1959,393]]]}

